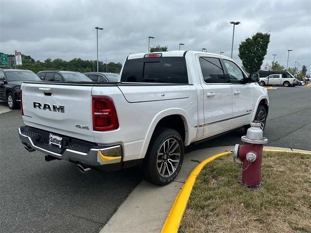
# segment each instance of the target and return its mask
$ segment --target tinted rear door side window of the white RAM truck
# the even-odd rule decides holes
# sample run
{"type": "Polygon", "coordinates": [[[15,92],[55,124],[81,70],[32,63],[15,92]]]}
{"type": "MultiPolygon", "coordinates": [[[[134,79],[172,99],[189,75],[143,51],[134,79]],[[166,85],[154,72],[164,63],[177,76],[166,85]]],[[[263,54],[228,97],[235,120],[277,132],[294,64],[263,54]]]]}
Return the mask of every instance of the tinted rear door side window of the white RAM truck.
{"type": "Polygon", "coordinates": [[[224,70],[218,58],[200,57],[199,61],[205,83],[226,83],[224,70]]]}

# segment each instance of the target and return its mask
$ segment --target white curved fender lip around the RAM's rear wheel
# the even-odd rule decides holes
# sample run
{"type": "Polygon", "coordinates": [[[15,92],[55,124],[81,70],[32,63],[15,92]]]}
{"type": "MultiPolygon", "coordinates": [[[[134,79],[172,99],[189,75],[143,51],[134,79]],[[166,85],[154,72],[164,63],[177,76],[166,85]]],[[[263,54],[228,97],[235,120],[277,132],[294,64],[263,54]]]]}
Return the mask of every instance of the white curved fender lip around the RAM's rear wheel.
{"type": "Polygon", "coordinates": [[[188,145],[190,143],[190,135],[191,134],[191,127],[189,125],[190,122],[190,117],[188,115],[188,113],[181,108],[171,108],[171,109],[165,109],[161,112],[159,112],[157,115],[155,115],[155,117],[152,119],[150,126],[148,128],[148,131],[146,133],[141,151],[140,151],[140,155],[139,155],[139,159],[142,159],[145,157],[145,154],[148,150],[148,146],[152,137],[152,134],[155,131],[155,127],[156,125],[159,123],[159,121],[161,119],[163,119],[166,116],[171,116],[171,115],[179,115],[182,117],[183,121],[184,121],[184,126],[185,126],[185,144],[188,145]]]}

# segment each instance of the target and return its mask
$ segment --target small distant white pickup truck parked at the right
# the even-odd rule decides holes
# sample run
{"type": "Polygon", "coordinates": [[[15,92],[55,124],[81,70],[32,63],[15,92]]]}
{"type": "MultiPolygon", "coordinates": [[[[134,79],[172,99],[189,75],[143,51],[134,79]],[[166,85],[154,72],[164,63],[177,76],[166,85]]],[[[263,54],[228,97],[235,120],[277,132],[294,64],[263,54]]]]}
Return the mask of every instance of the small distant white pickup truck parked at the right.
{"type": "Polygon", "coordinates": [[[284,85],[295,86],[297,81],[294,77],[287,74],[271,74],[268,77],[259,78],[261,85],[284,85]]]}

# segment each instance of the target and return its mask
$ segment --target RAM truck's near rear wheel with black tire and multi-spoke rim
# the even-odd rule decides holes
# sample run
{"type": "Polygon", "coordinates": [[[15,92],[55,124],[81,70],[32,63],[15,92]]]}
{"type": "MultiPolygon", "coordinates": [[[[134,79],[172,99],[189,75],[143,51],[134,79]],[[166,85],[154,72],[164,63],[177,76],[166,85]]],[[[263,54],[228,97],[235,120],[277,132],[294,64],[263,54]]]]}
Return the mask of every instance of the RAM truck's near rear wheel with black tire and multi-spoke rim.
{"type": "Polygon", "coordinates": [[[183,159],[184,142],[180,134],[170,128],[156,129],[142,166],[144,179],[156,185],[171,183],[178,175],[183,159]]]}

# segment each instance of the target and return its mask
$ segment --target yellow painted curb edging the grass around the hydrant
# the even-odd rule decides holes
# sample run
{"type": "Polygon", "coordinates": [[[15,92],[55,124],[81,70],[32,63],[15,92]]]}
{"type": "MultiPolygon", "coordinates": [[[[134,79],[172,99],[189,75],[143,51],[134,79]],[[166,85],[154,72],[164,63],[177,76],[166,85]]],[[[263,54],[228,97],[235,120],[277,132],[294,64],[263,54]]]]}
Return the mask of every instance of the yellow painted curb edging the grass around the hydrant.
{"type": "MultiPolygon", "coordinates": [[[[298,151],[290,151],[290,150],[263,150],[263,151],[272,151],[272,152],[289,152],[289,153],[302,153],[302,154],[311,154],[308,152],[298,152],[298,151]]],[[[211,157],[208,157],[206,160],[202,161],[198,166],[196,166],[188,179],[186,180],[186,183],[182,186],[181,190],[179,191],[172,208],[170,210],[169,216],[166,218],[166,221],[164,223],[164,226],[162,228],[161,233],[177,233],[178,228],[181,222],[181,219],[184,215],[184,211],[186,209],[190,193],[192,191],[192,187],[194,185],[194,182],[196,180],[196,177],[202,170],[202,168],[209,163],[210,161],[216,159],[217,157],[226,155],[231,153],[230,151],[222,152],[219,154],[215,154],[211,157]]]]}

